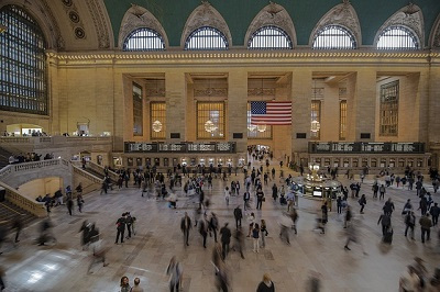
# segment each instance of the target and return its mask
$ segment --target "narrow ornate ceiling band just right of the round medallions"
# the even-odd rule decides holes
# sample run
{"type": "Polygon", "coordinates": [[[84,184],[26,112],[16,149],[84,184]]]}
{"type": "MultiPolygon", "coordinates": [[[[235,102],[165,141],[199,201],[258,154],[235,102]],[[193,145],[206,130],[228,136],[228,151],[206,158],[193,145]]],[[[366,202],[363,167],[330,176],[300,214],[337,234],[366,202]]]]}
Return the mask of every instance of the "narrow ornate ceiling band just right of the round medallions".
{"type": "MultiPolygon", "coordinates": [[[[70,1],[70,0],[64,0],[64,1],[70,1]]],[[[102,3],[102,1],[100,0],[86,1],[91,19],[94,20],[95,31],[97,32],[98,35],[98,47],[110,48],[109,32],[111,32],[111,30],[109,30],[109,27],[111,25],[108,21],[106,21],[107,10],[100,3],[102,3]]]]}

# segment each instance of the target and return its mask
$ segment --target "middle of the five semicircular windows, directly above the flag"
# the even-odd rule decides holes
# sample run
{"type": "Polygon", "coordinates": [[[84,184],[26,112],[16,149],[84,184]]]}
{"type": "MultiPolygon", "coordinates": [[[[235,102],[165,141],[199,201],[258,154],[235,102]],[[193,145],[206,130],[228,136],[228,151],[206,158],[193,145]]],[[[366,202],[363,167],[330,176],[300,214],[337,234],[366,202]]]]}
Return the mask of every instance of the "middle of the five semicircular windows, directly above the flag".
{"type": "Polygon", "coordinates": [[[249,49],[292,49],[288,34],[277,26],[263,26],[256,30],[248,42],[249,49]]]}

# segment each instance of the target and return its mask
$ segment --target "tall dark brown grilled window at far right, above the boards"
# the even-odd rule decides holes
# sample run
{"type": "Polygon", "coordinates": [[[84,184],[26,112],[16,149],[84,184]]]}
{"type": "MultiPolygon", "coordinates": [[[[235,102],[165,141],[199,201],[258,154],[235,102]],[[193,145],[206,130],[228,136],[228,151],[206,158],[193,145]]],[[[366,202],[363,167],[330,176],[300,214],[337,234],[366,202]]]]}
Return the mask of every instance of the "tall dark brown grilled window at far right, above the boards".
{"type": "Polygon", "coordinates": [[[381,86],[380,135],[397,136],[399,81],[381,86]]]}

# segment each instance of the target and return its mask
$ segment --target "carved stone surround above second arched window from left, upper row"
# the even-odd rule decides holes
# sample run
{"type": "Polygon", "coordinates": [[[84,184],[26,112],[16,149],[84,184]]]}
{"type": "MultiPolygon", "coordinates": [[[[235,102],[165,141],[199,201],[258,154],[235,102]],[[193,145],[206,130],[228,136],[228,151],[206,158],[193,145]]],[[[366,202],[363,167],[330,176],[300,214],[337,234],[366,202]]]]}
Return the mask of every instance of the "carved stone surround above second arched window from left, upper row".
{"type": "Polygon", "coordinates": [[[202,26],[219,30],[227,37],[229,46],[232,46],[231,32],[223,16],[208,1],[201,1],[201,4],[193,11],[185,23],[180,40],[182,48],[185,47],[185,42],[191,32],[202,26]]]}

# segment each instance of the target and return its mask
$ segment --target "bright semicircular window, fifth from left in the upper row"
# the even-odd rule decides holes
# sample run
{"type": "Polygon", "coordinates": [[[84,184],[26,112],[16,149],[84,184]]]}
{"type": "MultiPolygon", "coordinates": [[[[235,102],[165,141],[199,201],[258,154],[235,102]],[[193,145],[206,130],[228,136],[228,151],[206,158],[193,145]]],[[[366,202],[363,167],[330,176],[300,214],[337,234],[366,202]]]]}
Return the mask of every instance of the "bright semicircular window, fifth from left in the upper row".
{"type": "Polygon", "coordinates": [[[415,33],[405,26],[389,26],[382,31],[377,41],[378,49],[419,49],[415,33]]]}

